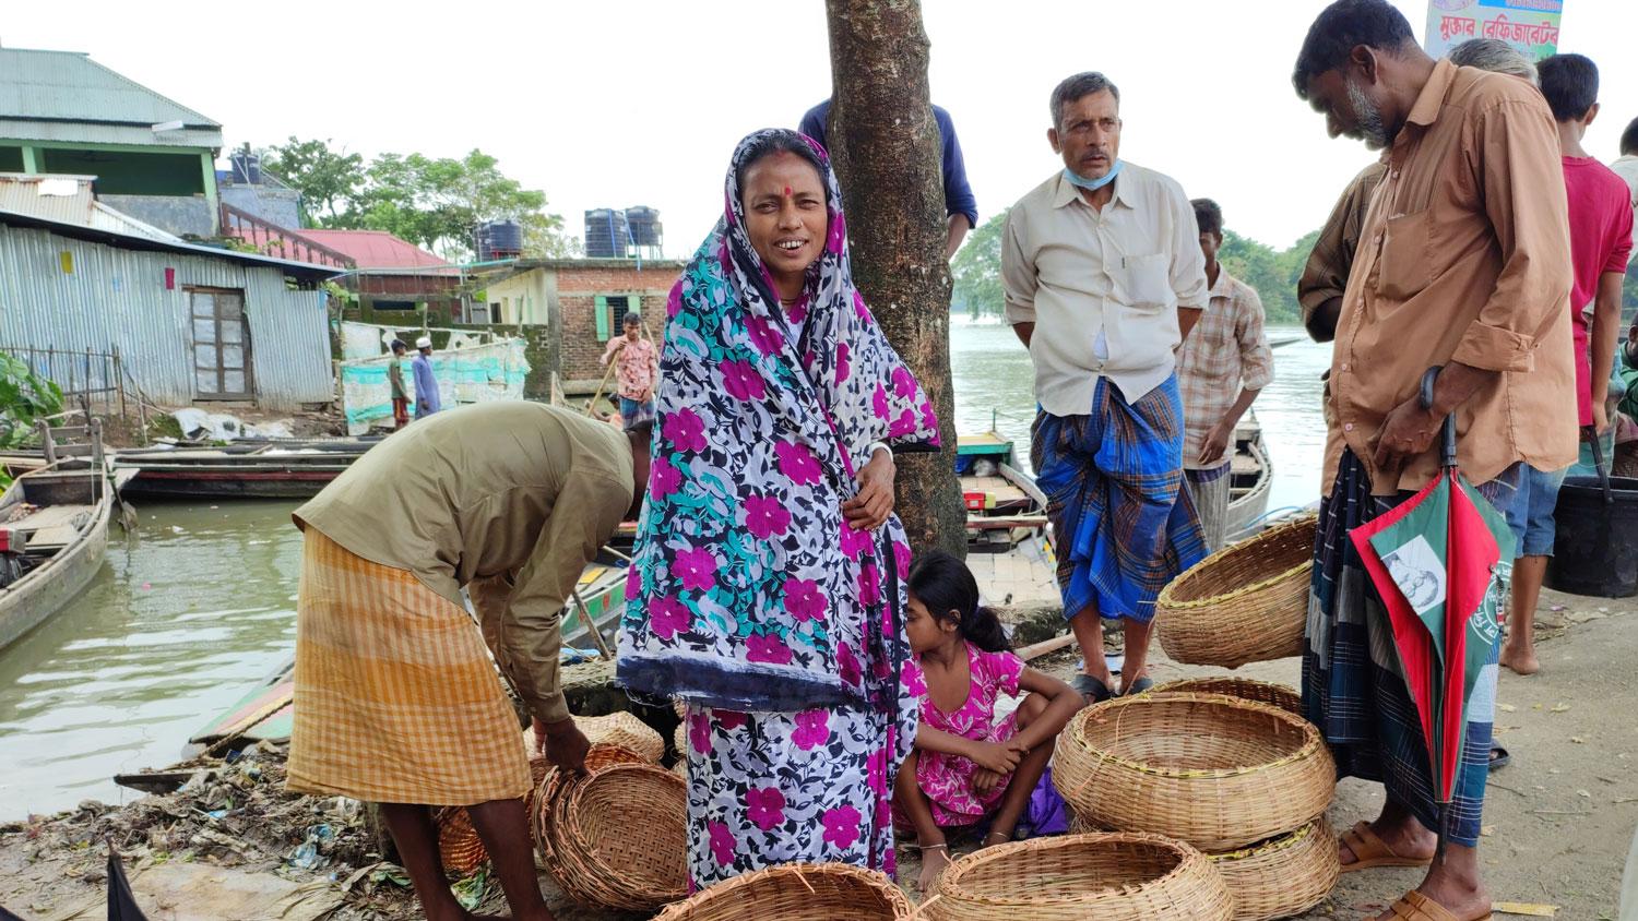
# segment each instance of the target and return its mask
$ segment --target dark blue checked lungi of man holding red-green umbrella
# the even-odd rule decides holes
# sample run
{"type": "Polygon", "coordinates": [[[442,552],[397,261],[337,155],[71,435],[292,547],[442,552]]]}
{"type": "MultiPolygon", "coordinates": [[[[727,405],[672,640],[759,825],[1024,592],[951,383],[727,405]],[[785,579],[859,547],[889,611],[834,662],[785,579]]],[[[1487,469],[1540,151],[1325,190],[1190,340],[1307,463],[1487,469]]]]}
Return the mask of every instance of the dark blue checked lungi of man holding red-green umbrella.
{"type": "MultiPolygon", "coordinates": [[[[1518,492],[1520,465],[1481,484],[1479,494],[1500,514],[1518,492]]],[[[1345,450],[1337,484],[1320,502],[1314,538],[1314,577],[1309,591],[1309,623],[1302,651],[1302,710],[1325,733],[1337,757],[1338,777],[1382,784],[1387,797],[1405,805],[1417,821],[1440,828],[1433,774],[1417,707],[1405,690],[1404,669],[1394,646],[1394,628],[1376,586],[1348,540],[1348,532],[1410,499],[1371,496],[1364,465],[1345,450]]],[[[1502,586],[1507,591],[1507,586],[1502,586]]],[[[1468,703],[1468,738],[1451,797],[1450,841],[1479,842],[1484,784],[1491,770],[1491,733],[1495,721],[1495,658],[1479,672],[1468,703]]]]}

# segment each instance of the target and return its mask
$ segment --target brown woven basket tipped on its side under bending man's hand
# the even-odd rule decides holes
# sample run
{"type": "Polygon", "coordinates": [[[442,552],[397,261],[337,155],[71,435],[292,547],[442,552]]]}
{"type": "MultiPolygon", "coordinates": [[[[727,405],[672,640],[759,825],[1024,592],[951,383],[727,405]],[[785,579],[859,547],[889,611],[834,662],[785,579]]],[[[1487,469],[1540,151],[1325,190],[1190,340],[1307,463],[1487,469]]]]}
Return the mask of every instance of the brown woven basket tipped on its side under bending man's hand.
{"type": "Polygon", "coordinates": [[[652,764],[559,775],[542,797],[545,867],[565,895],[618,911],[654,911],[688,895],[688,788],[652,764]]]}

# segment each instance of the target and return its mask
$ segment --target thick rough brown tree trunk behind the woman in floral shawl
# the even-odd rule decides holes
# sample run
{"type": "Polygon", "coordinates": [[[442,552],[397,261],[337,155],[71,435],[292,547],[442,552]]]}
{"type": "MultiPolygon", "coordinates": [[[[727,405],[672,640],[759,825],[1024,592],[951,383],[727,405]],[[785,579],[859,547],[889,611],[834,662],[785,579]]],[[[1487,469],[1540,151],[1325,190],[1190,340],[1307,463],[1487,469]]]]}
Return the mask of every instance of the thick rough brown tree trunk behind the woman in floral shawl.
{"type": "Polygon", "coordinates": [[[826,13],[832,85],[826,139],[847,204],[853,280],[939,411],[943,442],[937,453],[896,458],[894,510],[917,553],[942,548],[965,556],[950,386],[947,218],[921,3],[826,0],[826,13]]]}

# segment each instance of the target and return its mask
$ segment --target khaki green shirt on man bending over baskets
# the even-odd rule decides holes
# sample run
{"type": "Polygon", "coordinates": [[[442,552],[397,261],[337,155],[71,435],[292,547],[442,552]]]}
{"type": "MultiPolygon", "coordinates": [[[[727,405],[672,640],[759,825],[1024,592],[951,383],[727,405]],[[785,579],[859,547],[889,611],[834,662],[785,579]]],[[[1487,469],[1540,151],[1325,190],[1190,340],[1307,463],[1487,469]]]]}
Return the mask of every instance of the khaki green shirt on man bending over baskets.
{"type": "Polygon", "coordinates": [[[352,463],[296,527],[413,573],[454,604],[467,586],[495,659],[536,717],[568,717],[560,612],[631,507],[626,435],[537,402],[418,420],[352,463]]]}

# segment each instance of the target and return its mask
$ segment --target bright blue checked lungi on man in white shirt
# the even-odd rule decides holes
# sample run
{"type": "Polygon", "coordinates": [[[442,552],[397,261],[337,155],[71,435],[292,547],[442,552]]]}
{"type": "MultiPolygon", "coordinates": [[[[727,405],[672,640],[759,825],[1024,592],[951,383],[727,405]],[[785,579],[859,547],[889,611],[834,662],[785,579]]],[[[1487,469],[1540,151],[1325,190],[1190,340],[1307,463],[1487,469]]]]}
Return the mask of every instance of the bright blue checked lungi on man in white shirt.
{"type": "Polygon", "coordinates": [[[1135,404],[1099,378],[1088,416],[1042,411],[1030,434],[1065,620],[1097,605],[1106,618],[1148,623],[1166,582],[1206,556],[1183,489],[1178,376],[1135,404]]]}

